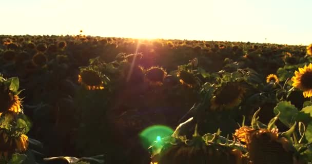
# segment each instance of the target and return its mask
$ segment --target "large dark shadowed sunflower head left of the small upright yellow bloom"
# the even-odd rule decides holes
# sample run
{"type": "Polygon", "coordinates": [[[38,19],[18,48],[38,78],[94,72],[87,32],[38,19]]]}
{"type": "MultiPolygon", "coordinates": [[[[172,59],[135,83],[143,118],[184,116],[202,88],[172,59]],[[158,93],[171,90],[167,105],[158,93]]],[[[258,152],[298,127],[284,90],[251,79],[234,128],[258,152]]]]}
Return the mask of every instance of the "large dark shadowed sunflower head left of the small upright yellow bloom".
{"type": "Polygon", "coordinates": [[[230,109],[238,106],[245,94],[245,88],[239,83],[229,82],[217,89],[216,95],[210,100],[212,110],[230,109]]]}

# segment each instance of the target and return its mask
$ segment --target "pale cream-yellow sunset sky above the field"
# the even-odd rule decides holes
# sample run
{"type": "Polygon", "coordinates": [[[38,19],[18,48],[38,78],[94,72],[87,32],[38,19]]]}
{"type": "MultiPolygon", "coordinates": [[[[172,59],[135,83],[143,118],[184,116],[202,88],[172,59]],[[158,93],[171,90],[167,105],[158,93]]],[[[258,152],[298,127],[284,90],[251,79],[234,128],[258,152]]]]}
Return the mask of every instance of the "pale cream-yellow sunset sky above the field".
{"type": "Polygon", "coordinates": [[[311,0],[0,0],[0,35],[309,45],[311,0]]]}

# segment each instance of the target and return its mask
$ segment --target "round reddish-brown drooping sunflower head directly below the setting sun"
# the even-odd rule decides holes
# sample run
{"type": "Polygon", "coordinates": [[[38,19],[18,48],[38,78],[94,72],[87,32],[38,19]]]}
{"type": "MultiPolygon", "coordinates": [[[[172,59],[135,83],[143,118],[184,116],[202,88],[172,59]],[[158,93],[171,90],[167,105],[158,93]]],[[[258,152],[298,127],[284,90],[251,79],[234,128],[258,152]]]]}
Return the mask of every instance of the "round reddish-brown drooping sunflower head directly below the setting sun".
{"type": "Polygon", "coordinates": [[[145,79],[151,86],[161,86],[164,83],[167,72],[160,67],[151,67],[146,70],[145,79]]]}

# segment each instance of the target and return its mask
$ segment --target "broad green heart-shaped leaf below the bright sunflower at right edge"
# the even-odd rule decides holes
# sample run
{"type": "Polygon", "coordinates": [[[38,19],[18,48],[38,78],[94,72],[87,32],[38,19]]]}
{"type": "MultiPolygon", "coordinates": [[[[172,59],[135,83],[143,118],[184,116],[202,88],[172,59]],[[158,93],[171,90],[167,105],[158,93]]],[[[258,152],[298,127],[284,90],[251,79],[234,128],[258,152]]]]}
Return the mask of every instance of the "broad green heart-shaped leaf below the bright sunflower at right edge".
{"type": "Polygon", "coordinates": [[[279,119],[287,127],[291,127],[296,121],[299,111],[294,105],[290,104],[290,101],[281,101],[274,108],[274,113],[277,115],[280,112],[279,119]]]}

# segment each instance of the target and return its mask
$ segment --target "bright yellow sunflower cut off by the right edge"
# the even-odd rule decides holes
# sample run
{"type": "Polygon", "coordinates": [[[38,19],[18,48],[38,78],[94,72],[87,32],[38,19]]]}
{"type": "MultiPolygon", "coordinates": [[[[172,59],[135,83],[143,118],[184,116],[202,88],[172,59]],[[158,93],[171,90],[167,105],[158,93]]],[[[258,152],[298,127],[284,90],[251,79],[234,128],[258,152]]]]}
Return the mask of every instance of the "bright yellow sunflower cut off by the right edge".
{"type": "Polygon", "coordinates": [[[303,91],[304,97],[312,96],[312,64],[299,68],[299,72],[295,71],[295,76],[291,78],[293,86],[303,91]]]}

